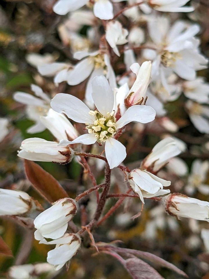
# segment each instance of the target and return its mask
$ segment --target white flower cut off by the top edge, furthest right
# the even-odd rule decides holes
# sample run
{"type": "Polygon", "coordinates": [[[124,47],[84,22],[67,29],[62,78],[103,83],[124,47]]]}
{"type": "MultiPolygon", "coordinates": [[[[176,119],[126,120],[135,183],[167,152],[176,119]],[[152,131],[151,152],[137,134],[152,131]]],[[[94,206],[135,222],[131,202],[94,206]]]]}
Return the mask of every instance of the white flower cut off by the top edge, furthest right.
{"type": "Polygon", "coordinates": [[[149,5],[161,12],[193,12],[193,7],[182,7],[189,0],[148,0],[149,5]]]}

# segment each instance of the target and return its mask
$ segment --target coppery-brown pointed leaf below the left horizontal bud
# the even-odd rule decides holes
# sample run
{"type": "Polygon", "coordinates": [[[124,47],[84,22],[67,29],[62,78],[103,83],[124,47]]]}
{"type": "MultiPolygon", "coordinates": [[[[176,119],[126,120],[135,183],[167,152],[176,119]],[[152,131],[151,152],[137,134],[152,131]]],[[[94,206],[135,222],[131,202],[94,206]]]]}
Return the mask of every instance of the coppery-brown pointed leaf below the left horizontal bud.
{"type": "Polygon", "coordinates": [[[60,183],[38,164],[29,160],[24,160],[24,164],[28,180],[48,202],[53,203],[59,198],[69,197],[60,183]]]}

